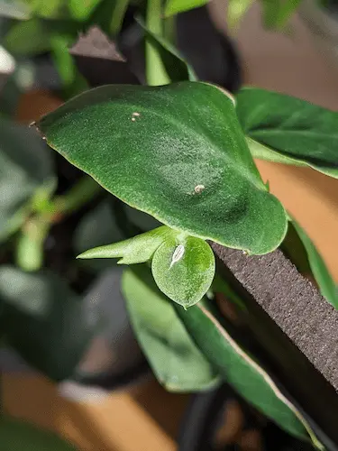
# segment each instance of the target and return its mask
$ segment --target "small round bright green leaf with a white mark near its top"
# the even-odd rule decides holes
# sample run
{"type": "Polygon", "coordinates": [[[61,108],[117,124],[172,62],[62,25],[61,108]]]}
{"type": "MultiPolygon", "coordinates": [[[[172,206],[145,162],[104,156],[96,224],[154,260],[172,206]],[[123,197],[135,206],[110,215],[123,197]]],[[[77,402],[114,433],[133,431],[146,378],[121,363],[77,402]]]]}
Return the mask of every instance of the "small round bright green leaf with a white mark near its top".
{"type": "Polygon", "coordinates": [[[169,299],[187,308],[206,294],[215,275],[215,255],[194,236],[173,236],[154,253],[151,271],[169,299]]]}

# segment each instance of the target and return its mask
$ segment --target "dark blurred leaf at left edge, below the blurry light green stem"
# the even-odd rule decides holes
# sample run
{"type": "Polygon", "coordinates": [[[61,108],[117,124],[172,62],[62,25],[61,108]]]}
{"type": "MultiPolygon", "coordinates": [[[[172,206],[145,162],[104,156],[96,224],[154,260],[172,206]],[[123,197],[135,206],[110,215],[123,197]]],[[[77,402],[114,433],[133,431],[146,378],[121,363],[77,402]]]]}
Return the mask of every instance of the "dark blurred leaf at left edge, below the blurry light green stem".
{"type": "Polygon", "coordinates": [[[51,379],[68,378],[96,327],[78,297],[55,274],[3,266],[0,299],[7,342],[51,379]]]}

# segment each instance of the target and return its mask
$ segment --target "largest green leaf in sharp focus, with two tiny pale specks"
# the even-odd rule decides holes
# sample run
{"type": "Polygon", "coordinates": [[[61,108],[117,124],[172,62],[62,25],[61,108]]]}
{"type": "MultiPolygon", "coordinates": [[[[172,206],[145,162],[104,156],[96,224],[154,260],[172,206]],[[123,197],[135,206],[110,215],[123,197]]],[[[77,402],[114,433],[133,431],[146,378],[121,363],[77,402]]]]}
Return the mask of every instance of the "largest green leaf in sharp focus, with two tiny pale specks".
{"type": "Polygon", "coordinates": [[[233,100],[218,87],[98,87],[37,126],[105,189],[167,226],[258,254],[286,233],[284,208],[267,192],[233,100]]]}

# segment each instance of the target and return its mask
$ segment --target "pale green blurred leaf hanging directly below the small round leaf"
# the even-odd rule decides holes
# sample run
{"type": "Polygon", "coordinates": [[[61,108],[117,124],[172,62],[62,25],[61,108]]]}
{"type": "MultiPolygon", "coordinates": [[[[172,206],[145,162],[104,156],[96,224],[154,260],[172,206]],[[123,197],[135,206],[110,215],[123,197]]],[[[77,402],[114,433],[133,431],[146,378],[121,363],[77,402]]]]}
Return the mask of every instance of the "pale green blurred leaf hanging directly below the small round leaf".
{"type": "Polygon", "coordinates": [[[123,272],[123,296],[132,327],[151,367],[170,391],[205,390],[217,373],[198,350],[172,302],[160,292],[145,265],[123,272]]]}

